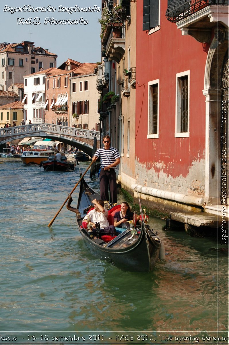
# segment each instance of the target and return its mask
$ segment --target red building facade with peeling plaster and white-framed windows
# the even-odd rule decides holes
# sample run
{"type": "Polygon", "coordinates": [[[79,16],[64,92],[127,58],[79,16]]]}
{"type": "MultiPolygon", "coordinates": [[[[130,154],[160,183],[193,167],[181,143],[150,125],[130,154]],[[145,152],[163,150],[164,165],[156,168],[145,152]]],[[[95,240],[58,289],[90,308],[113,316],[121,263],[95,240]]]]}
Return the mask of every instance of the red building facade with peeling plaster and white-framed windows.
{"type": "Polygon", "coordinates": [[[185,17],[177,3],[137,1],[136,30],[135,190],[170,210],[228,203],[219,183],[228,7],[185,17]]]}

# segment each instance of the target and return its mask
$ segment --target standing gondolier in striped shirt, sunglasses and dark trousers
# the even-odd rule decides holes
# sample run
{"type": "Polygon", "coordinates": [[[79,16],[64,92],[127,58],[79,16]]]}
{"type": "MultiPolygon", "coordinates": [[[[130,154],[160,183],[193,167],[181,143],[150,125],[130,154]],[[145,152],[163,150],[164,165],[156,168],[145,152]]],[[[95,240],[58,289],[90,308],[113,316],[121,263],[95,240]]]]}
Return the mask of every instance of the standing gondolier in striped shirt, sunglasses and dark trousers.
{"type": "Polygon", "coordinates": [[[117,183],[116,183],[116,165],[120,163],[118,150],[110,146],[111,138],[108,135],[103,137],[104,147],[97,149],[92,160],[97,158],[101,161],[100,171],[100,195],[103,201],[109,200],[108,190],[110,189],[110,202],[117,203],[117,183]]]}

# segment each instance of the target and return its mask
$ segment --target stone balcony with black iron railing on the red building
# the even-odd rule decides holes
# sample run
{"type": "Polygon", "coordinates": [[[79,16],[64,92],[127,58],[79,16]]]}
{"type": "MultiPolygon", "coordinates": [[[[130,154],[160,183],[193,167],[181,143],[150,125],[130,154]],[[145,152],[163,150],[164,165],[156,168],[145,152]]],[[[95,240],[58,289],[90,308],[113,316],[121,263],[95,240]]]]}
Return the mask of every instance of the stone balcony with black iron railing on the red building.
{"type": "Polygon", "coordinates": [[[183,35],[201,43],[211,42],[212,28],[217,22],[228,26],[228,0],[173,0],[166,18],[176,23],[183,35]]]}

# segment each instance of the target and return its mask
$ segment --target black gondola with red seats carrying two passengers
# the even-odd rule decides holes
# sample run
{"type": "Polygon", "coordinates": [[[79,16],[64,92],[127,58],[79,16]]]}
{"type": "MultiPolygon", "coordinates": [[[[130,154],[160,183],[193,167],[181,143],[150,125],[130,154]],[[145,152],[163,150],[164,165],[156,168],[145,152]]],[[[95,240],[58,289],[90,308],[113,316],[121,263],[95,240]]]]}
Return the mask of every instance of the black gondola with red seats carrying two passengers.
{"type": "MultiPolygon", "coordinates": [[[[141,224],[133,225],[128,229],[120,229],[118,231],[124,231],[117,232],[116,236],[111,237],[107,234],[103,235],[99,231],[97,231],[97,236],[94,236],[91,229],[85,229],[82,226],[82,220],[92,208],[91,201],[94,198],[100,199],[100,196],[86,184],[82,177],[77,208],[71,206],[70,194],[66,205],[67,209],[75,212],[76,223],[90,252],[124,271],[149,272],[152,270],[159,258],[161,248],[164,247],[157,234],[147,225],[147,216],[143,215],[140,200],[141,224]]],[[[104,208],[108,209],[108,221],[112,225],[114,214],[120,210],[120,205],[107,205],[105,202],[104,208]]],[[[163,255],[161,258],[164,258],[163,255]]]]}

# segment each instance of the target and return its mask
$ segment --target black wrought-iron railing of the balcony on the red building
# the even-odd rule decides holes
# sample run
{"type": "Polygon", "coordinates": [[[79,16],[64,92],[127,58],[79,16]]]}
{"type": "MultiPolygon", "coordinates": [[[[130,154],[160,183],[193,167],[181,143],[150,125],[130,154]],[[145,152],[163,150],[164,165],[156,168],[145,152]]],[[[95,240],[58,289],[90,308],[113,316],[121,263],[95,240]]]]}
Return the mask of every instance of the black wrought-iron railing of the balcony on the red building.
{"type": "Polygon", "coordinates": [[[177,23],[210,5],[228,6],[228,0],[173,0],[165,15],[167,20],[177,23]]]}

